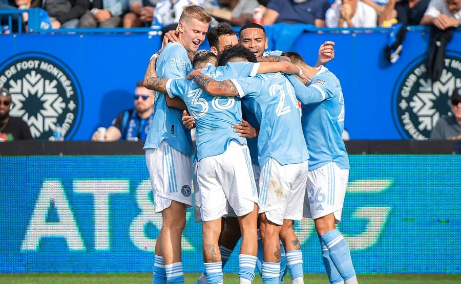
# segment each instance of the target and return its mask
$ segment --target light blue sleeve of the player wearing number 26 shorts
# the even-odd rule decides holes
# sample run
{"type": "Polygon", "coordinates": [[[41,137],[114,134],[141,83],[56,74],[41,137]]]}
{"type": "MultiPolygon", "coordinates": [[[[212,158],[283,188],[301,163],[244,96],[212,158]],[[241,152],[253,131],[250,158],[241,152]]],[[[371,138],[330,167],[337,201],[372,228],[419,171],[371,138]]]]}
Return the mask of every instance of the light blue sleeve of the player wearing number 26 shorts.
{"type": "MultiPolygon", "coordinates": [[[[311,83],[310,85],[306,86],[293,75],[286,77],[295,89],[296,98],[302,104],[318,103],[331,97],[331,92],[325,90],[325,88],[320,85],[320,81],[317,83],[311,83]]],[[[325,84],[325,81],[323,81],[323,84],[325,84]]]]}

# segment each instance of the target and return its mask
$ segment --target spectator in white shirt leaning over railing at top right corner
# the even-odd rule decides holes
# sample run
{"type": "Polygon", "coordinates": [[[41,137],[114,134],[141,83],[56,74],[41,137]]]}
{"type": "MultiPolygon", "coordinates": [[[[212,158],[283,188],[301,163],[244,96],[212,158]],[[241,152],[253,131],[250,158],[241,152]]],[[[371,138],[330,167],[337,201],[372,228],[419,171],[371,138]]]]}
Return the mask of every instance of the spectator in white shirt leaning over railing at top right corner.
{"type": "Polygon", "coordinates": [[[441,30],[461,24],[461,0],[431,0],[421,25],[434,25],[441,30]]]}

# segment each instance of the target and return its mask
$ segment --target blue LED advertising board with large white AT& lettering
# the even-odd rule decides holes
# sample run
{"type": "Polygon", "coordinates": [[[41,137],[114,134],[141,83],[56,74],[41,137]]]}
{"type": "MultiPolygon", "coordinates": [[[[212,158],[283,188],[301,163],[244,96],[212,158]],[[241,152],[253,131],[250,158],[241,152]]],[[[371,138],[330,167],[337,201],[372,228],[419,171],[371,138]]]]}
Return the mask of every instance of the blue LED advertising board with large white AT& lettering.
{"type": "MultiPolygon", "coordinates": [[[[75,145],[74,145],[75,147],[75,145]]],[[[359,273],[459,273],[460,155],[351,155],[342,223],[359,273]]],[[[151,272],[160,214],[143,156],[0,157],[0,273],[151,272]]],[[[304,271],[323,273],[313,223],[304,271]]],[[[203,270],[187,211],[186,272],[203,270]]],[[[237,251],[225,272],[236,272],[237,251]]]]}

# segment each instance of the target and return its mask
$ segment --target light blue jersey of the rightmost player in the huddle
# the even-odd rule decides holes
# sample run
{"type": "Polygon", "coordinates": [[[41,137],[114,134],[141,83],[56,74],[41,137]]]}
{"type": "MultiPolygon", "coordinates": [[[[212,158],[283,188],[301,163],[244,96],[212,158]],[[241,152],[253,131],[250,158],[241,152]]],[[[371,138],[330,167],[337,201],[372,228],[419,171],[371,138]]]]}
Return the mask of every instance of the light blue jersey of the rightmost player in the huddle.
{"type": "Polygon", "coordinates": [[[342,169],[349,168],[344,141],[344,98],[338,78],[321,66],[311,82],[303,85],[296,77],[288,76],[302,103],[302,125],[307,149],[309,170],[329,162],[342,169]]]}

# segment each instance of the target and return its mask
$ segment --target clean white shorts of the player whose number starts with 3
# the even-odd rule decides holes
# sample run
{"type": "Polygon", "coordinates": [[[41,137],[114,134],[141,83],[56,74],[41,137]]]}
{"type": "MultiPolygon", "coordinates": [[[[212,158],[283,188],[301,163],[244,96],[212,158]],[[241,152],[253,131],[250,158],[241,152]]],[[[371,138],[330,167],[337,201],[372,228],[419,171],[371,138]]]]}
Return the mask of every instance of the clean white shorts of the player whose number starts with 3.
{"type": "Polygon", "coordinates": [[[228,205],[237,216],[243,216],[252,212],[258,201],[248,147],[234,141],[222,154],[198,162],[197,181],[203,221],[225,216],[228,205]]]}

